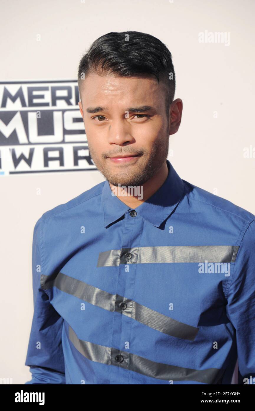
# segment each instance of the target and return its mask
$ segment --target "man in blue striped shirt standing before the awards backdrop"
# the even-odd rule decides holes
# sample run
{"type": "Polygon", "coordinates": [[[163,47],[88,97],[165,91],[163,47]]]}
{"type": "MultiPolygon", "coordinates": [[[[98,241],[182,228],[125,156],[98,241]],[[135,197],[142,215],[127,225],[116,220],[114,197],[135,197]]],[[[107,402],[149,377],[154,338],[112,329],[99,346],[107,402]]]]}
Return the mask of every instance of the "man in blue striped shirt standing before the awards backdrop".
{"type": "Polygon", "coordinates": [[[35,224],[27,384],[230,384],[237,356],[247,383],[255,215],[167,159],[182,116],[171,53],[148,34],[108,33],[78,84],[106,180],[35,224]]]}

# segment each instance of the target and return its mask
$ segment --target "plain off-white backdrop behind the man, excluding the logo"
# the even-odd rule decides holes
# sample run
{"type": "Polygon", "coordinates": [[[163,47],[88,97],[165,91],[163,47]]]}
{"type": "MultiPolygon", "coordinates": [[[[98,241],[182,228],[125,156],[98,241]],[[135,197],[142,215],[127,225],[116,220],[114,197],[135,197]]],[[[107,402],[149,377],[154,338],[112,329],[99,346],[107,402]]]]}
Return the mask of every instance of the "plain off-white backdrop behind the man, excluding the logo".
{"type": "MultiPolygon", "coordinates": [[[[0,12],[0,81],[76,79],[83,53],[107,32],[158,37],[172,53],[184,107],[169,160],[184,180],[255,214],[253,0],[2,0],[0,12]],[[200,32],[228,41],[201,43],[200,32]]],[[[99,171],[0,175],[1,378],[30,379],[36,220],[102,180],[99,171]]]]}

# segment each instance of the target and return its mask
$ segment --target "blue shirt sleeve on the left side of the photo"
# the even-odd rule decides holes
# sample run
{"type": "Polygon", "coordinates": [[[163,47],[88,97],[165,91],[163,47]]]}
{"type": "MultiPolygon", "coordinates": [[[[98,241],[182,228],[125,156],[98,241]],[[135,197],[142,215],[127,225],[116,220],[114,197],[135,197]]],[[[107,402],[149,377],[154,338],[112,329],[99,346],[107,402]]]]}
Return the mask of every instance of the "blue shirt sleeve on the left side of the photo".
{"type": "Polygon", "coordinates": [[[34,314],[25,365],[30,366],[31,381],[25,384],[65,384],[61,334],[63,318],[41,289],[43,272],[43,216],[36,222],[32,243],[32,282],[34,314]]]}

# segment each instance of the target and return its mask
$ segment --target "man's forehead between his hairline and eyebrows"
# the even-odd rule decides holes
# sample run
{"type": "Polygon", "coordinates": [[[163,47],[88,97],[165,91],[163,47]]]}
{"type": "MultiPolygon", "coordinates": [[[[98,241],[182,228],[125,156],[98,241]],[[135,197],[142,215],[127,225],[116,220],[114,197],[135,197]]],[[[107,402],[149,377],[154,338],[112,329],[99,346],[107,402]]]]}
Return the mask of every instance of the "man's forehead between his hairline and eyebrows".
{"type": "Polygon", "coordinates": [[[166,86],[158,83],[155,76],[123,77],[116,74],[99,75],[91,73],[81,80],[81,99],[83,104],[102,105],[103,101],[115,104],[161,105],[162,92],[166,86]]]}

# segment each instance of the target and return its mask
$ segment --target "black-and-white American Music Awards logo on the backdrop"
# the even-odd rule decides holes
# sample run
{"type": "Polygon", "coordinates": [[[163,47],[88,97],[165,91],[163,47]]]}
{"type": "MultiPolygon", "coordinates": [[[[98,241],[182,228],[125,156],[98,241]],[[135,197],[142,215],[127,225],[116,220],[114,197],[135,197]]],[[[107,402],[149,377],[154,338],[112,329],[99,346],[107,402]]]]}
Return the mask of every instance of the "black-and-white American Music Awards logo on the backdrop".
{"type": "Polygon", "coordinates": [[[0,176],[96,170],[76,80],[0,82],[0,176]]]}

